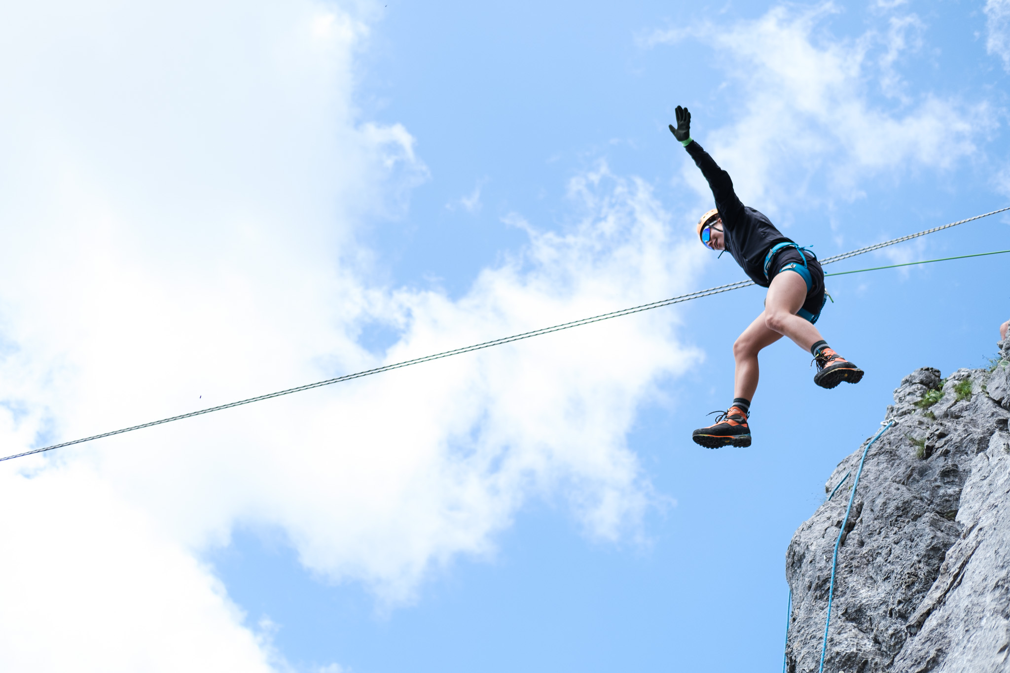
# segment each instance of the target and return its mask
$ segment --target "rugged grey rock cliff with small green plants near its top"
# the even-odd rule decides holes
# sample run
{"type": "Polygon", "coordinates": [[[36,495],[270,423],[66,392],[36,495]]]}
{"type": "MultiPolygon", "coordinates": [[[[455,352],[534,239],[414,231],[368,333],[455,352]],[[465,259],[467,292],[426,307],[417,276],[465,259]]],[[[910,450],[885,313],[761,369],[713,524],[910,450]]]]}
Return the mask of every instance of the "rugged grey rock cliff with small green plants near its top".
{"type": "MultiPolygon", "coordinates": [[[[1010,673],[1010,338],[988,369],[901,381],[838,550],[824,671],[1010,673]]],[[[868,438],[869,439],[869,438],[868,438]]],[[[793,536],[790,673],[816,672],[831,555],[863,447],[793,536]]]]}

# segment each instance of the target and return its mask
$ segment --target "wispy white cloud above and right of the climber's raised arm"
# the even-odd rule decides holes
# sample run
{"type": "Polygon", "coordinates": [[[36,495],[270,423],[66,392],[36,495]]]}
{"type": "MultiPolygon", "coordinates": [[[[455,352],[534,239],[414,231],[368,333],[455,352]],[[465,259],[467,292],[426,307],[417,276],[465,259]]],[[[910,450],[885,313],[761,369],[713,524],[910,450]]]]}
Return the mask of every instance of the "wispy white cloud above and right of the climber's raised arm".
{"type": "MultiPolygon", "coordinates": [[[[899,95],[897,107],[876,101],[873,89],[903,92],[896,64],[920,48],[923,24],[914,14],[890,16],[883,32],[833,39],[820,28],[835,11],[778,6],[755,20],[693,31],[711,35],[735,113],[731,126],[715,129],[696,113],[693,135],[730,173],[744,203],[772,212],[797,201],[824,205],[813,196],[822,190],[807,188],[820,175],[828,193],[853,199],[868,179],[898,166],[949,170],[995,125],[984,102],[931,94],[899,95]]],[[[707,195],[693,165],[684,177],[707,195]]]]}

